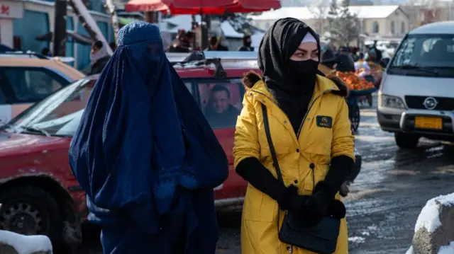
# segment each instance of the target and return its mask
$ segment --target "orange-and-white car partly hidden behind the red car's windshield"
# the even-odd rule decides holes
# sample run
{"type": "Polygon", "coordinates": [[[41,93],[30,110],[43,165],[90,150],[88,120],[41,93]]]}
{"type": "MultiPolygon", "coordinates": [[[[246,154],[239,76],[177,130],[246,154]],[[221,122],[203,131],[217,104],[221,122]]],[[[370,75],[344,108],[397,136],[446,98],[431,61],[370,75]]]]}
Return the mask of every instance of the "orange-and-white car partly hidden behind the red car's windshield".
{"type": "Polygon", "coordinates": [[[0,53],[0,126],[84,76],[70,65],[40,54],[0,53]]]}

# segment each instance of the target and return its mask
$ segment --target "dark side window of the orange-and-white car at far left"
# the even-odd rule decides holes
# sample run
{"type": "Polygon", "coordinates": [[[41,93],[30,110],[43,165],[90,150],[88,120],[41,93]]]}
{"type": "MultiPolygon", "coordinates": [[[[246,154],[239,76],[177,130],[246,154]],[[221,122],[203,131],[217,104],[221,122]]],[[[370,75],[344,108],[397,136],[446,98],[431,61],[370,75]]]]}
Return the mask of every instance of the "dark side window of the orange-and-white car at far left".
{"type": "Polygon", "coordinates": [[[69,81],[45,68],[2,67],[0,86],[6,103],[35,103],[67,86],[69,81]]]}

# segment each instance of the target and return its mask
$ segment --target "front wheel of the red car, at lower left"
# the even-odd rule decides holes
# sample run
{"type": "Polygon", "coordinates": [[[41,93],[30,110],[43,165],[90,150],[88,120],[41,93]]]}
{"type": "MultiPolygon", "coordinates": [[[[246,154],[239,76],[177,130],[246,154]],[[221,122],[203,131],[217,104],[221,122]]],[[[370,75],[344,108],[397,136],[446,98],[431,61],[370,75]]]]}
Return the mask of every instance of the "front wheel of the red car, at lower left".
{"type": "Polygon", "coordinates": [[[0,193],[0,229],[24,235],[46,235],[58,241],[62,232],[60,209],[45,190],[12,187],[0,193]]]}

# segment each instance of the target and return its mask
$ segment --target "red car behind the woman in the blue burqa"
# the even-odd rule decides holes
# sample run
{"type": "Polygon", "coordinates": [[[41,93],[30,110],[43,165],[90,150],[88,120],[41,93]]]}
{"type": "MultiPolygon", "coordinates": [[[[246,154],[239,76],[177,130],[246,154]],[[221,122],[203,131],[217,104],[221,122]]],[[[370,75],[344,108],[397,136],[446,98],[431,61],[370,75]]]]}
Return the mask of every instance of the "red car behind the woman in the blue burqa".
{"type": "MultiPolygon", "coordinates": [[[[222,67],[206,62],[175,66],[228,156],[230,175],[215,189],[216,204],[228,205],[242,202],[247,186],[234,171],[232,156],[245,93],[241,77],[258,69],[252,61],[222,67]]],[[[90,76],[65,86],[0,129],[0,229],[46,234],[72,246],[82,240],[85,193],[70,170],[68,149],[95,82],[90,76]]]]}

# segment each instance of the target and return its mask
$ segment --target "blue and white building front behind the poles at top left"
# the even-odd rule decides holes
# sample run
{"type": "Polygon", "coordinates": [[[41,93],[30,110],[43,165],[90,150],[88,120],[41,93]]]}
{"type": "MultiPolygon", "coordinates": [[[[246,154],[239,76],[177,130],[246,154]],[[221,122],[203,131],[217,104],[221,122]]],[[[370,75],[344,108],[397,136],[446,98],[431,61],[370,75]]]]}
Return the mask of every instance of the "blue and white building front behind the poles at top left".
{"type": "MultiPolygon", "coordinates": [[[[111,17],[106,15],[101,1],[90,2],[90,11],[99,30],[109,42],[114,40],[111,17]],[[96,10],[96,11],[95,11],[96,10]]],[[[38,41],[35,37],[45,35],[54,29],[54,3],[52,1],[0,0],[1,8],[9,9],[9,14],[0,14],[0,43],[15,50],[41,52],[44,47],[52,48],[52,42],[38,41]],[[2,7],[9,6],[9,8],[2,7]]],[[[77,16],[68,8],[66,19],[67,30],[89,36],[77,16]]],[[[67,40],[66,56],[74,57],[74,67],[83,69],[89,62],[89,45],[75,43],[70,37],[67,40]]]]}

